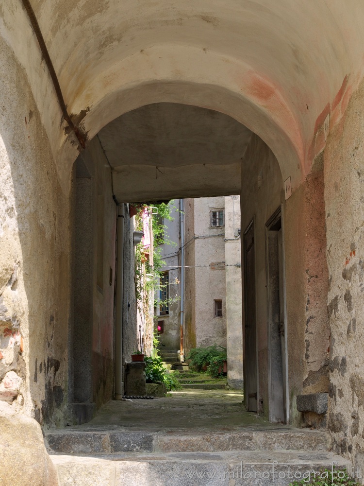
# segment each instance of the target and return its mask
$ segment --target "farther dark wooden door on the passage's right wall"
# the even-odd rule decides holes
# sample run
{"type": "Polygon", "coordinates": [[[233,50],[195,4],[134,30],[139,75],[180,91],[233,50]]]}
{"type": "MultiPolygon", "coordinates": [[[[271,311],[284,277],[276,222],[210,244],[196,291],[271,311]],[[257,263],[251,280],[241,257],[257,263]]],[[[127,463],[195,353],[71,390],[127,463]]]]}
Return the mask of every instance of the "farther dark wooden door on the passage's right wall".
{"type": "Polygon", "coordinates": [[[255,250],[254,223],[244,234],[244,300],[245,300],[245,393],[249,412],[258,411],[257,348],[255,322],[255,250]]]}

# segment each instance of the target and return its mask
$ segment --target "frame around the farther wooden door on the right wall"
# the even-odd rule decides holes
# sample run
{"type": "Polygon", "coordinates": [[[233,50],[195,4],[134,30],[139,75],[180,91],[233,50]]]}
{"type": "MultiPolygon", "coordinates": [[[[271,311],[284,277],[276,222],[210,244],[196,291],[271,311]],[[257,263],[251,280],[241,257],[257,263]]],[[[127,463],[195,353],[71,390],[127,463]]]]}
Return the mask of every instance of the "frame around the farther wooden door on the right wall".
{"type": "Polygon", "coordinates": [[[246,393],[246,386],[247,386],[247,365],[246,365],[246,346],[247,346],[247,339],[246,339],[246,332],[245,332],[245,322],[246,322],[246,248],[245,248],[245,236],[248,233],[249,229],[253,226],[253,233],[254,233],[254,287],[255,287],[255,367],[256,367],[256,387],[257,387],[257,414],[261,413],[261,405],[260,405],[260,395],[259,395],[259,358],[258,358],[258,329],[257,329],[257,259],[256,259],[256,224],[255,224],[255,215],[250,220],[248,226],[245,228],[242,242],[243,242],[243,263],[244,263],[244,275],[243,275],[243,295],[242,299],[244,302],[244,321],[243,321],[243,335],[244,335],[244,349],[243,349],[243,376],[244,376],[244,401],[246,403],[246,407],[248,409],[248,394],[246,393]]]}

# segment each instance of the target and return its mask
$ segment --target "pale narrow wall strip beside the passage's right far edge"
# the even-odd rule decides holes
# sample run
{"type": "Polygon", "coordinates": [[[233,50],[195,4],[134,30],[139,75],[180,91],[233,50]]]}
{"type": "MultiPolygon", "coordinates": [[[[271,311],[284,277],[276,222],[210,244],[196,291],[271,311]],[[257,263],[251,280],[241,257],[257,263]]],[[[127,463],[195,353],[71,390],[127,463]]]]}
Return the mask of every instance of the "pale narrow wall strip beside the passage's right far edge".
{"type": "Polygon", "coordinates": [[[243,316],[241,305],[240,196],[225,197],[226,347],[228,383],[243,388],[243,316]]]}

